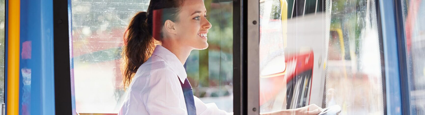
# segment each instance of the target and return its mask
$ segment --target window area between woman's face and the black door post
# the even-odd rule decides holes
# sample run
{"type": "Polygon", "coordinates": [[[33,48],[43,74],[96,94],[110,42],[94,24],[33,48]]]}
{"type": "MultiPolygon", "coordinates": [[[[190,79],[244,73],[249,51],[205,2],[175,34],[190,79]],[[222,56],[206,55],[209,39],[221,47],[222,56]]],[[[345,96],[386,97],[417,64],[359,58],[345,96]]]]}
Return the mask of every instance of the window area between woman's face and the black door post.
{"type": "Polygon", "coordinates": [[[214,102],[218,109],[233,112],[233,4],[228,1],[204,0],[208,48],[192,50],[186,61],[186,72],[193,95],[204,103],[214,102]]]}

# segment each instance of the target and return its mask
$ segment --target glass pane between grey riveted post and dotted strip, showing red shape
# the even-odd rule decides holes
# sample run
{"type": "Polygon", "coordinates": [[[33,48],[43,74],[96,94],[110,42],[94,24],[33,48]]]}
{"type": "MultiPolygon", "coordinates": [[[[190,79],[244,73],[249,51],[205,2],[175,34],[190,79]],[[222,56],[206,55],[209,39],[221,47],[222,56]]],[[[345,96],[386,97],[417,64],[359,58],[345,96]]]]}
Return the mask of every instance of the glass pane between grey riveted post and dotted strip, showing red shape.
{"type": "Polygon", "coordinates": [[[260,112],[321,106],[323,0],[259,2],[260,112]]]}

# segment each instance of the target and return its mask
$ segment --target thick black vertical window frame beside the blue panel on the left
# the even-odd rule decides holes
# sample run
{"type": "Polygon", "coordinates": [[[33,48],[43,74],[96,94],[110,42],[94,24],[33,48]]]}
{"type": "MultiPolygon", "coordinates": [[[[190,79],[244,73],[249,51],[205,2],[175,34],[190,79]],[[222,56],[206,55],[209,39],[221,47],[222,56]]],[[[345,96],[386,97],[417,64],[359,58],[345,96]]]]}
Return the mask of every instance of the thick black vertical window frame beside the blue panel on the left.
{"type": "MultiPolygon", "coordinates": [[[[69,0],[71,1],[71,0],[69,0]]],[[[68,0],[53,0],[54,93],[56,115],[72,114],[68,0]]]]}

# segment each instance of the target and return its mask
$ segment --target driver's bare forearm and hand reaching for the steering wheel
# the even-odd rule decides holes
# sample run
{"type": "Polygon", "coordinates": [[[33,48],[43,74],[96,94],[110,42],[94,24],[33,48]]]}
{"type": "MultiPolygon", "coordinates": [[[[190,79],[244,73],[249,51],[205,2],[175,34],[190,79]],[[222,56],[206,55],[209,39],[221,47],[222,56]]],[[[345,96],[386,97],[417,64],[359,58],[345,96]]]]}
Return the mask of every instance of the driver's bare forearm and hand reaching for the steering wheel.
{"type": "Polygon", "coordinates": [[[316,104],[311,104],[306,107],[300,107],[297,109],[286,109],[274,112],[264,112],[260,115],[318,115],[322,111],[322,108],[316,104]]]}

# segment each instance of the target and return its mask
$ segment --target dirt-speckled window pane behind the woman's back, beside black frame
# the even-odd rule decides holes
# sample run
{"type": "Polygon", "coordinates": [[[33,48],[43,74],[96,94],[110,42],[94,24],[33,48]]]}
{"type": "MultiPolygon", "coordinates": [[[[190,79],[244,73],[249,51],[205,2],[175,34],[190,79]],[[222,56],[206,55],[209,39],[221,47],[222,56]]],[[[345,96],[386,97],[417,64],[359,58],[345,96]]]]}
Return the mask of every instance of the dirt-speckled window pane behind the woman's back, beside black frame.
{"type": "Polygon", "coordinates": [[[149,0],[72,0],[72,55],[79,113],[118,113],[125,92],[119,69],[123,33],[149,0]]]}

